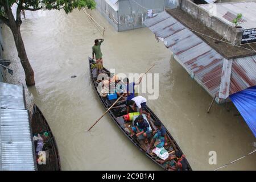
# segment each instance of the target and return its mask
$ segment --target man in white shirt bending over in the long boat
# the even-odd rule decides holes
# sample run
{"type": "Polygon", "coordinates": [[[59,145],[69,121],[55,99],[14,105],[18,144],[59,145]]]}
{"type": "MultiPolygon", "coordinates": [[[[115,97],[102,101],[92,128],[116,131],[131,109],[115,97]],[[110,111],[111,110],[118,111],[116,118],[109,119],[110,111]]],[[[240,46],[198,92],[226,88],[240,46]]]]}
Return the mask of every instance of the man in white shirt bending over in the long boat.
{"type": "Polygon", "coordinates": [[[134,97],[132,98],[130,101],[127,101],[127,104],[126,106],[127,107],[127,113],[130,112],[130,107],[131,106],[131,109],[133,109],[133,111],[137,111],[136,107],[139,108],[139,114],[146,114],[147,115],[147,118],[149,119],[150,118],[150,113],[147,113],[146,111],[146,98],[142,97],[142,96],[137,96],[137,97],[134,97]]]}

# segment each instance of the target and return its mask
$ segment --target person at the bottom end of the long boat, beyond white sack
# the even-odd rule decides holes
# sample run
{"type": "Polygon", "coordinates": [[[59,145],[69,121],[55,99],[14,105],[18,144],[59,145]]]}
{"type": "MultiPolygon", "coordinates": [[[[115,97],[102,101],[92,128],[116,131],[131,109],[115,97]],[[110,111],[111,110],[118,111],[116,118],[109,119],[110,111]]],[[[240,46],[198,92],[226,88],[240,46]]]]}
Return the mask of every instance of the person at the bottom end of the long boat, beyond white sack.
{"type": "Polygon", "coordinates": [[[174,155],[169,156],[166,160],[157,160],[160,164],[166,164],[168,171],[187,171],[188,161],[184,154],[180,151],[176,151],[176,157],[174,155]]]}

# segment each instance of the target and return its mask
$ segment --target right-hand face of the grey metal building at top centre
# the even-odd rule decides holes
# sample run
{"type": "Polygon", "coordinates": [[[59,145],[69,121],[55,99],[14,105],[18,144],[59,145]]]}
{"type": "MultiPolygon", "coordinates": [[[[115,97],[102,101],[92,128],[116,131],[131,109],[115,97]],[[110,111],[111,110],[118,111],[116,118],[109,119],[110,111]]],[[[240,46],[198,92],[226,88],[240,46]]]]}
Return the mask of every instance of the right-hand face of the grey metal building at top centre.
{"type": "Polygon", "coordinates": [[[147,10],[164,11],[165,0],[119,0],[118,31],[144,27],[147,10]]]}

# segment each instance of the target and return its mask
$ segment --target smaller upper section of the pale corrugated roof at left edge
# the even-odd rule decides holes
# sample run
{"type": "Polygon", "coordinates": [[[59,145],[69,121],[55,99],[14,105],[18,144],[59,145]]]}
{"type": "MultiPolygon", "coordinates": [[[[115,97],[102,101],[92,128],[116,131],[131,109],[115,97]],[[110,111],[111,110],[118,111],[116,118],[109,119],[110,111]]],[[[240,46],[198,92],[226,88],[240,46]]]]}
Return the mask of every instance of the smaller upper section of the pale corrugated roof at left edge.
{"type": "Polygon", "coordinates": [[[0,107],[25,109],[22,86],[0,82],[0,107]]]}

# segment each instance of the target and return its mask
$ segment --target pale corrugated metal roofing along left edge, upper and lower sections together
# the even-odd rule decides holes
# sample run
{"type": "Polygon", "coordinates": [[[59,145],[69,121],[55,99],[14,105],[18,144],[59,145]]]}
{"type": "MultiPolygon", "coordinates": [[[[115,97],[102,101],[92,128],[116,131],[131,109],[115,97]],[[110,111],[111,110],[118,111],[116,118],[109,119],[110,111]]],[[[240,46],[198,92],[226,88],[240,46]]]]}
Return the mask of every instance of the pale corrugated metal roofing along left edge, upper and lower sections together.
{"type": "MultiPolygon", "coordinates": [[[[16,102],[15,98],[20,100],[20,94],[23,100],[22,86],[2,82],[0,85],[1,101],[8,90],[10,92],[6,97],[11,98],[10,101],[5,99],[8,103],[16,102]]],[[[24,100],[20,100],[20,103],[24,106],[24,100]]],[[[8,106],[13,107],[13,104],[8,106]]],[[[35,170],[30,120],[26,109],[0,109],[0,170],[35,170]]]]}

